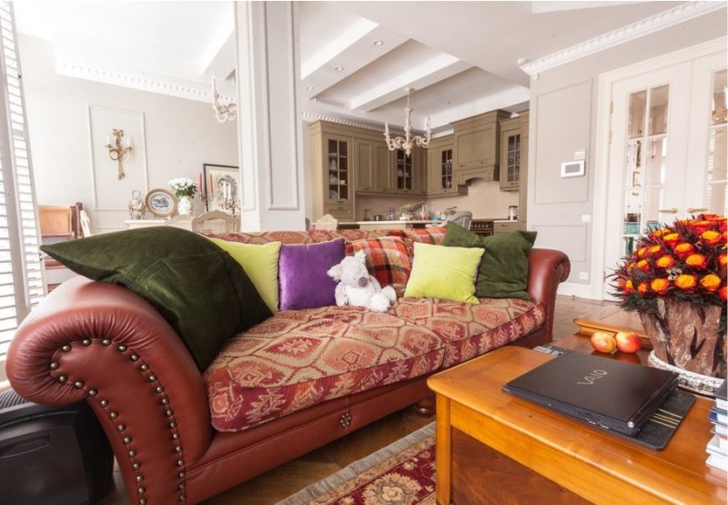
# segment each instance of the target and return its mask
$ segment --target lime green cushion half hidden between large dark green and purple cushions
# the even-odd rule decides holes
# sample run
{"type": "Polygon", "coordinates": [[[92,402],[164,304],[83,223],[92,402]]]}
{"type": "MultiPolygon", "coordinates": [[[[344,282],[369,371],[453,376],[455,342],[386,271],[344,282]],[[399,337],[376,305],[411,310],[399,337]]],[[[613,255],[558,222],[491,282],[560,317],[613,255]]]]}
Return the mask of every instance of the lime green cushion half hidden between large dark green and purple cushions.
{"type": "Polygon", "coordinates": [[[215,245],[227,251],[248,274],[260,297],[273,312],[278,311],[278,256],[280,242],[254,245],[210,238],[215,245]]]}

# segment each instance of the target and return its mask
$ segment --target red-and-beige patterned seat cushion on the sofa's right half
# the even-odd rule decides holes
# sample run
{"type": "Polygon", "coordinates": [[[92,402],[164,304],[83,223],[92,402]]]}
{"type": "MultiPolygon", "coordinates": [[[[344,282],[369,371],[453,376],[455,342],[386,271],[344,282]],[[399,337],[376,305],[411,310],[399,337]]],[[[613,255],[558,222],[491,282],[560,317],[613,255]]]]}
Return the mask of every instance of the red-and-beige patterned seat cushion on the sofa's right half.
{"type": "Polygon", "coordinates": [[[479,305],[433,298],[399,298],[389,314],[435,331],[445,342],[442,368],[510,344],[541,327],[546,312],[520,298],[480,298],[479,305]]]}

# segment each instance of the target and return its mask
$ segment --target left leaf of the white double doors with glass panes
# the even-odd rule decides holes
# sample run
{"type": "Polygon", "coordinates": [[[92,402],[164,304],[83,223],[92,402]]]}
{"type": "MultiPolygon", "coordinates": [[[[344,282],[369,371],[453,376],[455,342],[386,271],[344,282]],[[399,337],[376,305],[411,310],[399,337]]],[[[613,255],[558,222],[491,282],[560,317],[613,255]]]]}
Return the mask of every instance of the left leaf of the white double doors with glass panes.
{"type": "Polygon", "coordinates": [[[684,62],[612,83],[607,274],[644,229],[685,217],[691,70],[684,62]]]}

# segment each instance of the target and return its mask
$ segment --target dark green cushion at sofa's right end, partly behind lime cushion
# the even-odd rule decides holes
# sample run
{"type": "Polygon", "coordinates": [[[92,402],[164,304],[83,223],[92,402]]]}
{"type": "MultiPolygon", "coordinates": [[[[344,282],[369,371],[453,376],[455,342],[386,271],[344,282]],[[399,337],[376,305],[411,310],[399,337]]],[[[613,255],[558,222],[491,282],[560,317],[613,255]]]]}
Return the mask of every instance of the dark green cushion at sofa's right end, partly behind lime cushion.
{"type": "Polygon", "coordinates": [[[478,298],[522,298],[529,280],[528,252],[536,241],[535,231],[514,231],[503,235],[480,237],[456,223],[448,223],[444,246],[484,247],[475,296],[478,298]]]}

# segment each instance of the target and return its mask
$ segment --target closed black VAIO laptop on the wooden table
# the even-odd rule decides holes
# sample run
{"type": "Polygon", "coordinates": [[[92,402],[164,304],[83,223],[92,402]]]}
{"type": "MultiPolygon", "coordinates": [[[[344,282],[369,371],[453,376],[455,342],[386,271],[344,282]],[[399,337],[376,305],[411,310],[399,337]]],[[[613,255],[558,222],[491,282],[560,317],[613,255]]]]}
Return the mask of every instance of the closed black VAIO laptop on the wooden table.
{"type": "Polygon", "coordinates": [[[674,372],[570,352],[511,380],[503,390],[633,437],[677,384],[674,372]]]}

